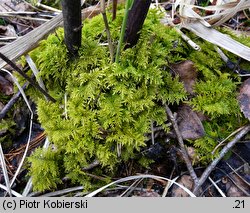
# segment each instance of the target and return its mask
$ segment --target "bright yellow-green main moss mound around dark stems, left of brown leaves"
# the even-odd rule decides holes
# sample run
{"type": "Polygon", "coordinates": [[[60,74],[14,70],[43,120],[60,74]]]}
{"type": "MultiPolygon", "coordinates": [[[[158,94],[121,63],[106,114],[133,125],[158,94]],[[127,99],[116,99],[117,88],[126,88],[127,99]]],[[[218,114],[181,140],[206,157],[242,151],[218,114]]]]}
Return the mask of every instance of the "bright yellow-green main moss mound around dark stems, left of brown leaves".
{"type": "MultiPolygon", "coordinates": [[[[111,23],[114,40],[118,39],[121,21],[118,16],[111,23]]],[[[49,161],[39,157],[40,150],[30,158],[36,190],[54,188],[57,178],[64,175],[88,186],[89,177],[83,168],[94,159],[100,161],[103,173],[114,171],[118,162],[134,158],[146,145],[151,121],[167,130],[162,103],[179,103],[186,98],[182,83],[164,70],[165,57],[176,40],[180,38],[175,30],[163,27],[152,11],[139,43],[123,51],[119,64],[111,64],[107,46],[100,45],[106,41],[101,16],[84,24],[79,59],[69,61],[62,29],[33,51],[40,75],[57,103],[48,103],[34,91],[32,97],[38,105],[39,120],[61,156],[60,164],[53,160],[57,154],[51,152],[49,161]],[[46,162],[53,166],[46,166],[46,162]]]]}

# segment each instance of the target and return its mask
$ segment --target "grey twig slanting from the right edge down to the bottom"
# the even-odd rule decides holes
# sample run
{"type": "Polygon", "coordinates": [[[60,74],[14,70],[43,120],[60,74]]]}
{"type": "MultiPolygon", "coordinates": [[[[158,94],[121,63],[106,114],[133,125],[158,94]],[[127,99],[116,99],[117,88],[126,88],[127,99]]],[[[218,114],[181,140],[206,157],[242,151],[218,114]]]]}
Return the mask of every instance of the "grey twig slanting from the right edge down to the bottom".
{"type": "Polygon", "coordinates": [[[202,176],[199,179],[198,184],[195,186],[193,193],[196,195],[202,186],[202,184],[206,181],[212,170],[219,163],[219,161],[225,156],[225,154],[248,132],[250,131],[250,125],[245,126],[235,137],[231,140],[220,152],[220,155],[213,160],[213,162],[206,168],[203,172],[202,176]]]}

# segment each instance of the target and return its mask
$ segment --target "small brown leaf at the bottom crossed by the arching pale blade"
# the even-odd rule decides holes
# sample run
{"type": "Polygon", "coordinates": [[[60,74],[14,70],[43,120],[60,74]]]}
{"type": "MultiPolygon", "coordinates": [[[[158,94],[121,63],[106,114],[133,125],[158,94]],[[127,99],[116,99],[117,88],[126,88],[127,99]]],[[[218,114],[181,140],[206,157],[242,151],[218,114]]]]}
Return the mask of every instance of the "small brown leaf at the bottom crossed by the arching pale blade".
{"type": "MultiPolygon", "coordinates": [[[[189,190],[193,188],[193,180],[189,175],[183,175],[177,183],[181,184],[182,186],[186,187],[189,190]]],[[[175,186],[171,192],[172,197],[189,197],[188,193],[185,192],[182,188],[175,186]]]]}

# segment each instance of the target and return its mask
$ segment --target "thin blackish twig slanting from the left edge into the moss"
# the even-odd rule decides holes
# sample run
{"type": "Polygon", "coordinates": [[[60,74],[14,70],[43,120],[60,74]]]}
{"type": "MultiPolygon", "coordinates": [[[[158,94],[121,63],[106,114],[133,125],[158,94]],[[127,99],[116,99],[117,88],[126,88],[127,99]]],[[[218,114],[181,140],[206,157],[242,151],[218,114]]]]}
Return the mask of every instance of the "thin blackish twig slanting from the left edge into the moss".
{"type": "Polygon", "coordinates": [[[21,76],[23,76],[27,81],[30,82],[36,89],[38,89],[43,95],[45,95],[48,100],[56,102],[44,89],[42,89],[32,78],[30,78],[26,73],[24,73],[14,62],[9,60],[5,55],[0,53],[0,58],[2,58],[6,63],[8,63],[14,70],[16,70],[21,76]]]}

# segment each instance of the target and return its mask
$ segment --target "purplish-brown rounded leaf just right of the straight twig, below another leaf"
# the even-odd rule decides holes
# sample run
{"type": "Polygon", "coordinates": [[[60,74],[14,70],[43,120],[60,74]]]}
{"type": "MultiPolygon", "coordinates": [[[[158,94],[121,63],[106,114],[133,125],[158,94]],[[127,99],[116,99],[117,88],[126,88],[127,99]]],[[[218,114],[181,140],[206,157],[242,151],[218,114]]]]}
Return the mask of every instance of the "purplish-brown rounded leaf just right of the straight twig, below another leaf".
{"type": "Polygon", "coordinates": [[[195,140],[205,135],[205,130],[197,113],[188,105],[177,111],[177,123],[183,139],[195,140]]]}

